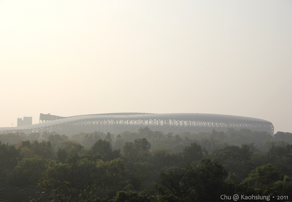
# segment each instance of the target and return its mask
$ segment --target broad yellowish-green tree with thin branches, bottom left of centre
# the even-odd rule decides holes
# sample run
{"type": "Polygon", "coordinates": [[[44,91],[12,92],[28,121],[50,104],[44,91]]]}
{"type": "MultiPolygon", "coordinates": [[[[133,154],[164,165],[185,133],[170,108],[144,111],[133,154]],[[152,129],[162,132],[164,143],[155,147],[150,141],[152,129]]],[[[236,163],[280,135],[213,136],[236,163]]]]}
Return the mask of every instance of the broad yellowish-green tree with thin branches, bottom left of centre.
{"type": "Polygon", "coordinates": [[[82,201],[109,195],[113,197],[117,190],[128,185],[125,178],[127,172],[124,161],[120,158],[109,162],[85,158],[76,164],[55,164],[44,173],[38,186],[53,190],[51,197],[59,200],[82,201]]]}

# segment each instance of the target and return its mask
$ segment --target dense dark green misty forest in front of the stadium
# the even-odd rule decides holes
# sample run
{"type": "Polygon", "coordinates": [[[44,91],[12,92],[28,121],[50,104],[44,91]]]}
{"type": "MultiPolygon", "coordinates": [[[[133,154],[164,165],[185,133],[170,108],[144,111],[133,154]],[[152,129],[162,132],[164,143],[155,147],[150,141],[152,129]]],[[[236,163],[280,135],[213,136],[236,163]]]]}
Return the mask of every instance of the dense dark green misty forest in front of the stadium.
{"type": "Polygon", "coordinates": [[[288,132],[0,134],[0,181],[43,201],[292,201],[291,178],[288,132]]]}

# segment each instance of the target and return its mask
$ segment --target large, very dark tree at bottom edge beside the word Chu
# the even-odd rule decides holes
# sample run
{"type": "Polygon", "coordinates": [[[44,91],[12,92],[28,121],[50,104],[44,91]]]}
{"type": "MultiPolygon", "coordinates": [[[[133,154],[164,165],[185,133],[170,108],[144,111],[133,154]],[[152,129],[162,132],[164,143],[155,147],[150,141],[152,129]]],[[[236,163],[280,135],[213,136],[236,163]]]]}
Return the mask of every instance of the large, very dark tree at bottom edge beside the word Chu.
{"type": "Polygon", "coordinates": [[[174,195],[186,202],[214,202],[221,194],[231,193],[224,182],[227,176],[221,164],[203,159],[197,167],[186,164],[182,169],[162,173],[161,184],[155,186],[162,196],[174,195]]]}

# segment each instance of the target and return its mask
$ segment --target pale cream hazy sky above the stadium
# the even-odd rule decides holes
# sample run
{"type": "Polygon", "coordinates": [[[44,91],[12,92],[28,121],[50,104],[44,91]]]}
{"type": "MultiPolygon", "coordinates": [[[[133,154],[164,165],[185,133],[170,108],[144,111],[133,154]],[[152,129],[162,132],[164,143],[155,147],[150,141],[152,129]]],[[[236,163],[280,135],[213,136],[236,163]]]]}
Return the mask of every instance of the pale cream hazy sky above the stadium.
{"type": "Polygon", "coordinates": [[[292,1],[0,0],[0,127],[110,112],[292,132],[292,1]]]}

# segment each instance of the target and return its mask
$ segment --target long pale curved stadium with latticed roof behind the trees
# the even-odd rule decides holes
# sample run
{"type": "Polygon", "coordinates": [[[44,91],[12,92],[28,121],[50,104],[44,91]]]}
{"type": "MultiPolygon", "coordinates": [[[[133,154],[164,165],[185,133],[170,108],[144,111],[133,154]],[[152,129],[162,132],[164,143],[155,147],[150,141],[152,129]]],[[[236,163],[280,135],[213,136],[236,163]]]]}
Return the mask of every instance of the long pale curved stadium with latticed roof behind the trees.
{"type": "Polygon", "coordinates": [[[241,128],[252,131],[267,131],[274,135],[271,122],[242,116],[202,114],[202,113],[106,113],[61,117],[51,114],[40,114],[39,124],[18,127],[1,127],[0,133],[40,133],[56,132],[60,135],[71,136],[80,132],[94,131],[120,134],[124,131],[137,132],[139,128],[148,127],[152,131],[200,133],[213,129],[226,132],[228,128],[241,128]]]}

